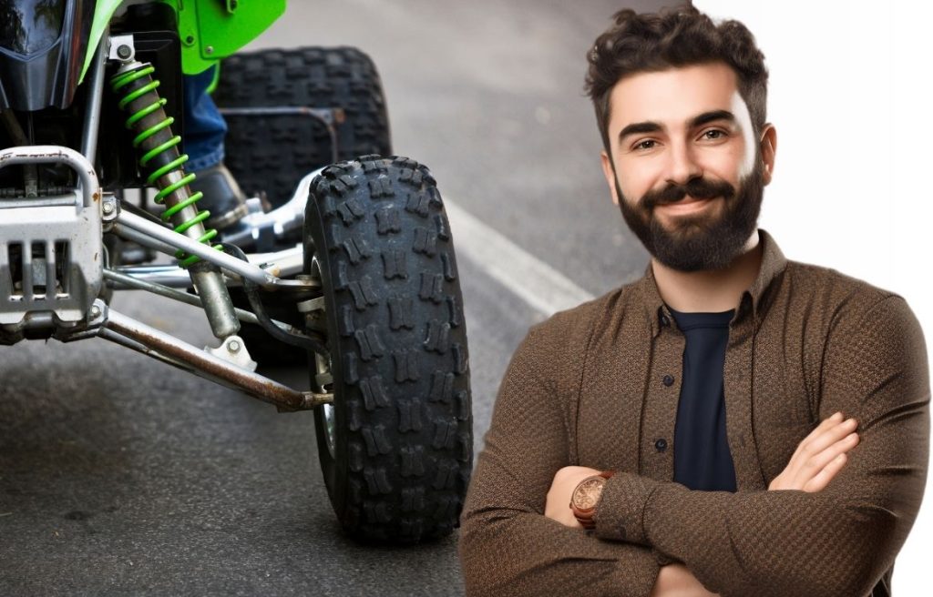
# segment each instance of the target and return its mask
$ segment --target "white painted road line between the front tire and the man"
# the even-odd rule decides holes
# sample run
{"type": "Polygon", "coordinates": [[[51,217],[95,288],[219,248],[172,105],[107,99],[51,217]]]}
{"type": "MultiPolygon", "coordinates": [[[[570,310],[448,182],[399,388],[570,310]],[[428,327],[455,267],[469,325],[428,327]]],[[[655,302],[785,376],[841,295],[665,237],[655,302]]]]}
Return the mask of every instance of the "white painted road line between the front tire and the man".
{"type": "Polygon", "coordinates": [[[450,198],[444,198],[444,207],[451,222],[457,257],[480,265],[486,274],[536,311],[550,316],[592,300],[590,292],[483,224],[450,198]]]}

